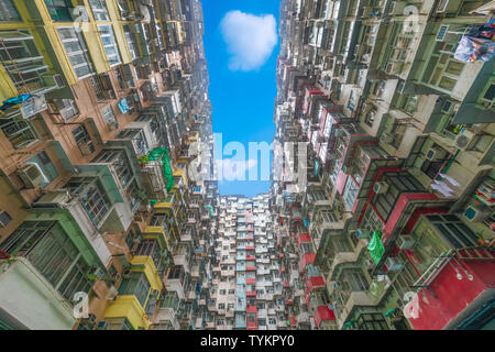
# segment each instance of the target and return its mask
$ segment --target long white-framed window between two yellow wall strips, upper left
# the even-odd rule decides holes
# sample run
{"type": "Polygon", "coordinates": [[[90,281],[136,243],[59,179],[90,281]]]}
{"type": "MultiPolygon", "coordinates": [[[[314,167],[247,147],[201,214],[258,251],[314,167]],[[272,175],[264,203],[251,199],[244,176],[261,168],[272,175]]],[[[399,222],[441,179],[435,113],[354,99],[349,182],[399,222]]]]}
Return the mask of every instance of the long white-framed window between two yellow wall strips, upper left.
{"type": "Polygon", "coordinates": [[[94,73],[88,47],[79,31],[74,28],[58,28],[58,36],[77,78],[84,78],[94,73]]]}

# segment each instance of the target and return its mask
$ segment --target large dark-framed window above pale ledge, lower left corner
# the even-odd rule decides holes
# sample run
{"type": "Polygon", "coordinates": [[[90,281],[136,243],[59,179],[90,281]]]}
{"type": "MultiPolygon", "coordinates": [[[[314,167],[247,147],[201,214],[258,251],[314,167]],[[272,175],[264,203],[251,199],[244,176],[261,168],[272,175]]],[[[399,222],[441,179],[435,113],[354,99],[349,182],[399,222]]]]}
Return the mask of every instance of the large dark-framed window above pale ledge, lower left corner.
{"type": "Polygon", "coordinates": [[[55,221],[25,221],[0,246],[26,257],[67,300],[77,292],[88,293],[89,265],[79,249],[55,221]]]}

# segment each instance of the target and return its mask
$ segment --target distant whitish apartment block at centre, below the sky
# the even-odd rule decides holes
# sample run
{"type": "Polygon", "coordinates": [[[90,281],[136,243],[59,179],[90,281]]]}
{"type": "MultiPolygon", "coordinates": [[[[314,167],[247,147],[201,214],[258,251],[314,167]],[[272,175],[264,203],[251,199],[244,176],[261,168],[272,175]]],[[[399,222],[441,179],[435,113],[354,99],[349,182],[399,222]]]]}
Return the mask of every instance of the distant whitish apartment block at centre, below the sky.
{"type": "Polygon", "coordinates": [[[217,330],[285,328],[279,263],[275,255],[270,196],[221,196],[211,312],[217,330]]]}

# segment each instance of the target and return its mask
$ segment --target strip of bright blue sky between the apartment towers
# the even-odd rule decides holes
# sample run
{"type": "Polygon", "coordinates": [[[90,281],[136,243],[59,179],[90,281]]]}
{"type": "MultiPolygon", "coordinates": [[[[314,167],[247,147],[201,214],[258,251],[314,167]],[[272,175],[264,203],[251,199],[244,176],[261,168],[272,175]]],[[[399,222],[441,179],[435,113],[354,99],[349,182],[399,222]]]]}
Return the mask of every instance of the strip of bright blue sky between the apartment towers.
{"type": "MultiPolygon", "coordinates": [[[[279,1],[202,0],[202,6],[205,53],[210,77],[209,97],[213,107],[213,132],[222,133],[223,145],[231,141],[243,143],[248,158],[249,142],[265,141],[270,144],[275,134],[273,111],[276,98],[276,57],[279,52],[279,1]],[[231,13],[230,18],[224,20],[226,14],[231,11],[240,12],[231,13]],[[261,16],[265,14],[275,18],[276,38],[265,35],[268,32],[275,33],[275,30],[264,29],[265,25],[270,28],[270,23],[273,22],[261,16]],[[240,47],[242,43],[248,43],[243,45],[244,48],[254,45],[253,50],[243,52],[240,47]],[[273,51],[270,51],[272,47],[273,51]],[[238,56],[235,52],[239,52],[238,56]],[[253,54],[256,52],[260,52],[260,55],[253,54]],[[261,57],[262,53],[264,57],[261,57]]],[[[248,179],[248,173],[245,175],[248,179]]],[[[219,186],[222,195],[255,196],[267,191],[270,182],[223,180],[219,186]]]]}

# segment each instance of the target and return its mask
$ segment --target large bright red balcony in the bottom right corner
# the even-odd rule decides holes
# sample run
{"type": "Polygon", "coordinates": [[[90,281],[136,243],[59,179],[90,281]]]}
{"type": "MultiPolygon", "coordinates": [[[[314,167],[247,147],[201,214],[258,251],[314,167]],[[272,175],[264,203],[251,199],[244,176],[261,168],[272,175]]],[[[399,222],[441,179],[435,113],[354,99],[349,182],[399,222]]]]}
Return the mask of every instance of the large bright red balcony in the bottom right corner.
{"type": "Polygon", "coordinates": [[[461,249],[437,258],[414,284],[418,295],[405,307],[409,322],[417,330],[470,329],[471,317],[490,312],[484,305],[493,298],[494,272],[493,246],[461,249]]]}

